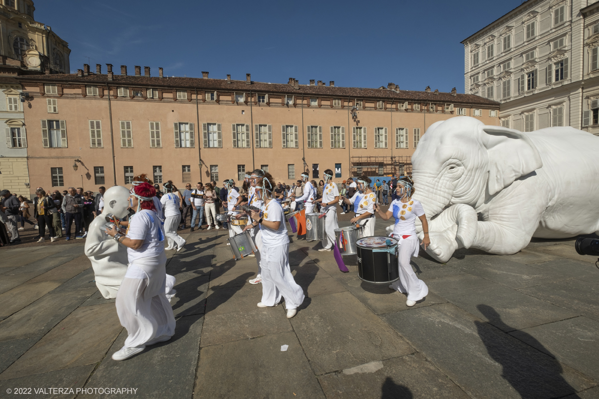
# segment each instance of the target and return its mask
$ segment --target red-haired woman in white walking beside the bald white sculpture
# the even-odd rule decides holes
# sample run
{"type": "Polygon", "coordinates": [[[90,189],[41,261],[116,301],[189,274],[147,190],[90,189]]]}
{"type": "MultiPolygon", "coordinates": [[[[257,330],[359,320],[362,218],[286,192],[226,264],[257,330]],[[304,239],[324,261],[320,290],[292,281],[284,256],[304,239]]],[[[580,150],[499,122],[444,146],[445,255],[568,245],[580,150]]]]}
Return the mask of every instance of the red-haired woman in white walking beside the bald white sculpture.
{"type": "Polygon", "coordinates": [[[128,337],[123,348],[112,355],[113,360],[130,358],[148,345],[170,340],[175,333],[173,308],[165,294],[167,256],[155,196],[156,189],[149,183],[135,185],[129,196],[129,208],[135,215],[129,219],[126,232],[116,227],[107,231],[127,247],[129,260],[116,296],[117,314],[128,337]]]}

